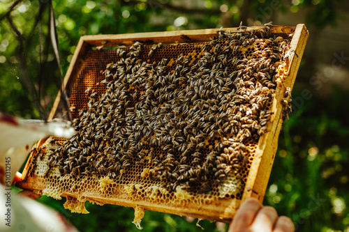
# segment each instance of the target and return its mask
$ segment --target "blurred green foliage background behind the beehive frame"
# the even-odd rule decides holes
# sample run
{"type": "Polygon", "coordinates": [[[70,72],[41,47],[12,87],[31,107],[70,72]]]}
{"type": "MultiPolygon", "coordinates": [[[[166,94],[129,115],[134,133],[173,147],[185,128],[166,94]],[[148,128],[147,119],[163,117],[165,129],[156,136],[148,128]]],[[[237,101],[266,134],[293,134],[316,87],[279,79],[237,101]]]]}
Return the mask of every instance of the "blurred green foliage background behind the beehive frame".
{"type": "MultiPolygon", "coordinates": [[[[58,92],[59,72],[50,47],[44,49],[47,57],[43,69],[39,69],[39,26],[32,29],[39,4],[45,2],[23,1],[10,17],[26,38],[27,67],[37,89],[38,73],[43,74],[40,103],[48,114],[58,92]]],[[[53,1],[62,72],[65,74],[80,36],[219,28],[225,11],[230,13],[230,26],[238,26],[240,20],[246,20],[246,14],[254,18],[260,14],[261,8],[271,7],[271,2],[198,0],[186,4],[185,1],[171,0],[53,1]]],[[[12,3],[1,1],[0,15],[4,15],[12,3]]],[[[346,20],[338,12],[344,1],[279,3],[279,13],[306,9],[306,26],[313,29],[310,33],[319,34],[327,26],[335,29],[339,20],[346,20]]],[[[45,47],[49,45],[46,40],[48,11],[43,15],[41,30],[45,47]]],[[[265,20],[272,17],[268,15],[265,20]]],[[[22,70],[15,56],[17,49],[17,40],[5,18],[0,24],[0,110],[24,118],[38,118],[31,96],[22,85],[22,70]]],[[[349,231],[349,125],[346,118],[349,113],[349,92],[334,86],[333,94],[326,100],[315,95],[309,99],[302,98],[302,91],[306,89],[304,83],[309,82],[315,72],[311,61],[311,54],[304,56],[299,69],[292,97],[302,101],[294,105],[290,119],[283,124],[264,204],[274,206],[279,215],[290,217],[296,231],[349,231]]],[[[80,231],[138,231],[131,223],[132,208],[87,203],[90,213],[79,215],[65,210],[62,201],[45,196],[38,201],[61,212],[80,231]]],[[[143,231],[201,231],[195,224],[196,220],[188,222],[184,217],[161,212],[146,212],[142,220],[143,231]]],[[[215,223],[205,220],[200,225],[207,231],[228,229],[228,225],[225,229],[219,229],[215,223]]]]}

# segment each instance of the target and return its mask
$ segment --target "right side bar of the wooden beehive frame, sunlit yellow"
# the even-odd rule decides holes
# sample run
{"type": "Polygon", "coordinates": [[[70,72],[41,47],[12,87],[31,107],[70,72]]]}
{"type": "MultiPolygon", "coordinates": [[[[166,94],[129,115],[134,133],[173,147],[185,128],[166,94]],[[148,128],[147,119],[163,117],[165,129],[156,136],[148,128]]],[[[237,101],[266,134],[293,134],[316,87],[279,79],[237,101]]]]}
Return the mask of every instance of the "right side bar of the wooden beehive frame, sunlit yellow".
{"type": "Polygon", "coordinates": [[[243,201],[251,196],[258,199],[261,203],[264,199],[278,147],[279,133],[283,123],[281,115],[283,105],[281,100],[284,98],[285,88],[289,87],[292,89],[292,86],[295,83],[308,36],[309,31],[306,30],[306,26],[304,24],[298,24],[295,34],[290,42],[288,59],[286,59],[287,76],[285,77],[285,82],[283,83],[283,86],[278,84],[276,88],[276,96],[272,105],[272,111],[276,112],[276,114],[272,116],[272,124],[268,126],[269,132],[260,137],[258,150],[255,153],[255,158],[253,159],[244,194],[242,196],[243,201]]]}

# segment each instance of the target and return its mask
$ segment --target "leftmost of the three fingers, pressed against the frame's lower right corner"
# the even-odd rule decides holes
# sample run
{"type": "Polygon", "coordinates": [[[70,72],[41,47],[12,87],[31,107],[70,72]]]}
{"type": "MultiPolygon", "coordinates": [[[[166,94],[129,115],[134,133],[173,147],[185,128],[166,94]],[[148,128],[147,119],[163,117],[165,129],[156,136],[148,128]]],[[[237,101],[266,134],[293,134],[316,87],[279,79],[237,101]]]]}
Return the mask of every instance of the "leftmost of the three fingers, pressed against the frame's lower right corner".
{"type": "Polygon", "coordinates": [[[262,204],[257,199],[246,199],[235,214],[234,219],[229,227],[229,232],[242,231],[247,229],[255,219],[258,211],[262,208],[262,204]]]}

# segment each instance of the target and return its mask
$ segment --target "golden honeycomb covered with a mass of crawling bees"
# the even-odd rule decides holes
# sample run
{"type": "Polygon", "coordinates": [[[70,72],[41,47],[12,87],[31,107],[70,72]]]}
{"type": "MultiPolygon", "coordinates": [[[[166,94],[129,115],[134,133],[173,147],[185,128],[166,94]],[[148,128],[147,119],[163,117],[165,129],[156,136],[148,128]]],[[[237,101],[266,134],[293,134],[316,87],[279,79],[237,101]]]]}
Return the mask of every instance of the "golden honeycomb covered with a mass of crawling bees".
{"type": "MultiPolygon", "coordinates": [[[[64,206],[82,213],[85,201],[110,198],[163,206],[241,200],[288,74],[290,38],[269,29],[89,49],[70,97],[76,134],[32,150],[29,176],[44,183],[40,194],[65,195],[64,206]]],[[[144,210],[134,208],[140,228],[144,210]]]]}

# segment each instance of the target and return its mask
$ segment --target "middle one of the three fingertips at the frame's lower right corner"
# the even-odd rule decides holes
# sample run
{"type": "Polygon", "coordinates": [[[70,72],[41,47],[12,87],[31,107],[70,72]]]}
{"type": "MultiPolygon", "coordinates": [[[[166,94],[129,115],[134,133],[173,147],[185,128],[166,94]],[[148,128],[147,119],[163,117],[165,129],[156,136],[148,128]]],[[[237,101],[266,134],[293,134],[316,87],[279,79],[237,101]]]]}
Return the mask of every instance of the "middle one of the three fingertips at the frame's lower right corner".
{"type": "Polygon", "coordinates": [[[265,206],[256,215],[253,223],[251,224],[251,229],[252,231],[260,231],[262,228],[262,231],[272,232],[276,219],[278,219],[278,213],[276,212],[275,208],[265,206]]]}

